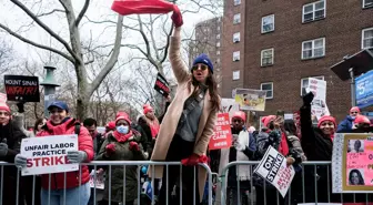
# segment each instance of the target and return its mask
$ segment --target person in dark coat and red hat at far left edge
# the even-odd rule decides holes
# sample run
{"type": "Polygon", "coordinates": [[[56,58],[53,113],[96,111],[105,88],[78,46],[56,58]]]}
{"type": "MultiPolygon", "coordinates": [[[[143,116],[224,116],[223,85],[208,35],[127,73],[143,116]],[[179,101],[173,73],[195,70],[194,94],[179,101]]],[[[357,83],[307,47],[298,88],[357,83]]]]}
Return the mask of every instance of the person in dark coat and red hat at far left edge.
{"type": "MultiPolygon", "coordinates": [[[[11,112],[8,104],[6,102],[0,102],[0,161],[14,163],[14,157],[20,152],[21,140],[26,135],[22,130],[16,125],[16,122],[11,120],[11,112]]],[[[4,176],[0,180],[0,183],[4,187],[3,193],[1,193],[3,196],[2,203],[16,204],[18,174],[17,167],[4,166],[2,171],[4,176]]],[[[21,187],[22,186],[19,188],[20,193],[18,195],[20,205],[23,204],[21,187]]]]}

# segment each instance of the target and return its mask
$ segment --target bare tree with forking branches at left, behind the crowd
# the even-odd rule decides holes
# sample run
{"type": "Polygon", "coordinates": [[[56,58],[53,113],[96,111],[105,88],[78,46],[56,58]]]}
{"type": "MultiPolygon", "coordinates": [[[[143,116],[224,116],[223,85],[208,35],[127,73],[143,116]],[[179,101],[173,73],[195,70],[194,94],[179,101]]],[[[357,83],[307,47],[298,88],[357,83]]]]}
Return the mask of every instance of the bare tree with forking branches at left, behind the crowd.
{"type": "MultiPolygon", "coordinates": [[[[84,1],[83,8],[80,10],[78,16],[74,12],[74,8],[72,6],[71,0],[59,0],[59,6],[54,6],[51,11],[40,13],[32,11],[32,8],[34,7],[27,7],[22,1],[19,0],[10,0],[16,7],[21,9],[26,16],[28,16],[32,20],[32,24],[37,24],[39,28],[41,28],[44,32],[50,34],[53,40],[59,42],[63,49],[57,49],[56,47],[49,47],[46,44],[38,43],[36,41],[32,41],[28,39],[27,37],[21,35],[19,32],[11,30],[8,25],[0,23],[0,28],[8,32],[10,35],[30,44],[36,48],[47,50],[50,52],[53,52],[67,61],[69,61],[71,64],[73,64],[74,73],[77,76],[77,115],[80,119],[84,119],[88,104],[91,95],[93,92],[99,88],[102,80],[108,75],[108,73],[113,69],[114,64],[118,61],[118,57],[120,53],[121,48],[121,41],[122,41],[122,21],[123,17],[119,16],[117,20],[117,31],[115,31],[115,40],[114,43],[112,43],[112,50],[110,57],[107,58],[105,65],[100,70],[97,78],[89,82],[88,80],[88,71],[85,65],[90,63],[88,58],[84,58],[83,49],[82,49],[82,41],[81,41],[81,33],[80,33],[80,23],[82,21],[82,18],[84,17],[88,8],[90,7],[90,0],[84,1]],[[65,40],[62,38],[61,34],[53,31],[47,23],[42,21],[41,18],[49,17],[51,14],[63,14],[64,19],[67,20],[68,24],[68,33],[69,33],[69,40],[65,40]]],[[[37,10],[37,9],[34,9],[37,10]]]]}

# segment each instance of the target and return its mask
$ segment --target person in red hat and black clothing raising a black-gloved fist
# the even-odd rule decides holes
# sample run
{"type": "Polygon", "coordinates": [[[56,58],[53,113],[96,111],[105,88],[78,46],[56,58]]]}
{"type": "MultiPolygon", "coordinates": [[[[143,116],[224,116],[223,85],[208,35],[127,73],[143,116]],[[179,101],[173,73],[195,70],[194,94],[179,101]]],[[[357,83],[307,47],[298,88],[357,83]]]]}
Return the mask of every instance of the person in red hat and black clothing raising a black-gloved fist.
{"type": "MultiPolygon", "coordinates": [[[[333,152],[333,136],[336,129],[335,119],[333,116],[324,115],[317,122],[317,127],[312,125],[311,121],[311,102],[313,101],[313,93],[310,92],[303,96],[303,105],[300,109],[301,115],[301,144],[308,161],[332,161],[333,152]]],[[[317,202],[329,202],[327,196],[334,196],[327,189],[331,184],[327,177],[331,175],[331,168],[327,171],[326,166],[317,166],[317,172],[313,168],[304,170],[304,180],[308,186],[305,187],[305,202],[315,202],[315,175],[317,181],[317,202]],[[329,172],[329,173],[327,173],[329,172]]],[[[333,201],[332,201],[333,202],[333,201]]]]}

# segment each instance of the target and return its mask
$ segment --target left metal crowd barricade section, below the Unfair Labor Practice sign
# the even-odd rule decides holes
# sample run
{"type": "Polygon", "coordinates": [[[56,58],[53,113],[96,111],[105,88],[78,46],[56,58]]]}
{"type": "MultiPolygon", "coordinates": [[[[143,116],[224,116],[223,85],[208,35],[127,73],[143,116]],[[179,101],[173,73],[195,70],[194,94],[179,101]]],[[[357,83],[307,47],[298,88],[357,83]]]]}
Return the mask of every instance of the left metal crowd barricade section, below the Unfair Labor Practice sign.
{"type": "MultiPolygon", "coordinates": [[[[138,166],[138,168],[137,168],[137,175],[138,175],[138,193],[137,193],[137,205],[141,205],[141,180],[140,180],[140,170],[141,170],[141,166],[143,166],[143,165],[148,165],[150,168],[149,168],[149,171],[150,172],[152,172],[152,175],[154,175],[154,166],[157,166],[157,165],[163,165],[164,166],[164,168],[165,168],[165,171],[167,171],[167,178],[162,178],[162,181],[163,182],[165,182],[165,185],[167,185],[167,193],[169,193],[169,191],[170,191],[170,188],[171,187],[169,187],[169,185],[168,185],[168,181],[169,181],[169,167],[170,166],[180,166],[180,187],[182,187],[182,177],[181,177],[181,175],[182,175],[182,164],[180,163],[180,162],[152,162],[152,161],[93,161],[93,162],[91,162],[91,163],[82,163],[82,164],[80,164],[79,166],[80,166],[80,168],[79,168],[79,172],[80,172],[80,174],[79,174],[79,176],[81,176],[81,171],[82,171],[82,168],[81,168],[81,166],[82,165],[89,165],[89,166],[93,166],[93,168],[94,168],[94,171],[98,168],[98,167],[103,167],[103,166],[105,166],[105,167],[108,167],[107,168],[107,171],[105,171],[105,173],[107,173],[107,178],[105,180],[108,180],[109,181],[109,187],[105,187],[105,188],[109,188],[109,202],[108,202],[108,204],[109,205],[111,205],[112,203],[111,203],[111,197],[112,197],[112,194],[111,194],[111,183],[112,183],[112,180],[111,180],[111,176],[112,176],[112,167],[113,166],[123,166],[123,181],[122,181],[122,183],[123,183],[123,198],[122,198],[122,203],[119,203],[119,204],[121,204],[121,205],[127,205],[125,204],[125,184],[127,184],[127,180],[125,180],[125,167],[127,166],[138,166]]],[[[4,185],[3,185],[3,180],[4,180],[4,175],[3,175],[3,171],[4,171],[4,167],[6,166],[14,166],[13,164],[10,164],[10,163],[2,163],[2,162],[0,162],[0,171],[1,171],[1,186],[0,186],[0,205],[9,205],[9,204],[6,204],[6,203],[3,203],[4,201],[4,198],[6,197],[9,197],[9,196],[4,196],[3,195],[3,189],[4,188],[7,188],[7,187],[4,187],[4,185]]],[[[212,205],[212,173],[211,173],[211,170],[210,170],[210,167],[206,165],[206,164],[199,164],[199,166],[201,166],[201,167],[203,167],[203,168],[205,168],[206,170],[206,173],[208,173],[208,184],[209,185],[211,185],[211,186],[209,186],[209,188],[208,188],[208,204],[209,205],[212,205]]],[[[198,166],[194,166],[194,183],[193,183],[193,198],[194,198],[194,204],[195,204],[195,197],[196,197],[196,194],[195,194],[195,186],[198,185],[196,183],[195,183],[195,181],[196,181],[196,178],[195,178],[195,176],[196,176],[196,167],[198,166]]],[[[95,188],[95,180],[97,180],[97,173],[95,172],[93,172],[94,174],[93,174],[93,178],[94,178],[94,187],[92,188],[93,189],[93,192],[91,192],[91,194],[93,194],[93,204],[94,205],[97,205],[98,204],[98,202],[97,202],[97,188],[95,188]]],[[[48,196],[48,205],[54,205],[54,204],[51,204],[51,175],[52,174],[49,174],[49,191],[48,191],[48,193],[49,193],[49,196],[48,196]]],[[[21,176],[21,173],[20,173],[20,170],[18,170],[18,172],[17,172],[17,193],[16,193],[16,205],[20,205],[20,204],[26,204],[26,203],[23,203],[23,202],[19,202],[19,196],[20,196],[20,193],[22,193],[22,192],[20,192],[20,180],[22,178],[23,176],[21,176]]],[[[80,182],[80,184],[81,184],[81,177],[79,177],[79,182],[80,182]]],[[[151,184],[152,184],[152,199],[151,199],[151,204],[150,205],[154,205],[155,204],[155,202],[154,202],[154,177],[153,178],[151,178],[151,184]]],[[[64,173],[64,187],[67,187],[67,173],[64,173]]],[[[81,192],[80,191],[80,187],[81,186],[79,186],[79,192],[81,192]]],[[[64,204],[65,205],[65,188],[63,189],[63,203],[62,204],[64,204]]],[[[182,205],[183,204],[183,202],[182,202],[182,191],[183,191],[183,188],[180,188],[180,205],[182,205]]],[[[36,192],[36,176],[33,176],[33,183],[32,183],[32,204],[27,204],[27,205],[34,205],[34,192],[36,192]]],[[[165,201],[167,201],[167,204],[165,205],[169,205],[169,195],[167,194],[167,196],[165,196],[167,198],[165,198],[165,201]]],[[[202,196],[201,196],[202,197],[202,196]]],[[[75,205],[85,205],[85,204],[81,204],[81,202],[80,201],[78,201],[78,202],[75,202],[77,204],[75,205]]],[[[135,202],[134,202],[134,204],[135,204],[135,202]]],[[[171,204],[170,204],[171,205],[171,204]]],[[[185,204],[185,205],[190,205],[190,204],[185,204]]]]}

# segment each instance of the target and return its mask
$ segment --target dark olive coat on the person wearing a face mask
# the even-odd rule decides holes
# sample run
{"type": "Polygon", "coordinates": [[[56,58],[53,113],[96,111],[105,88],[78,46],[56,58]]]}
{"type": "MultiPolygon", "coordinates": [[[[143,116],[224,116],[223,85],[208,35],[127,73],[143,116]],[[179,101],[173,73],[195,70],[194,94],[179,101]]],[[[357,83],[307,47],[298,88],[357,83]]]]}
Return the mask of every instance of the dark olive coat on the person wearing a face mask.
{"type": "MultiPolygon", "coordinates": [[[[118,142],[112,133],[108,135],[103,142],[99,155],[95,157],[97,161],[143,161],[147,160],[143,154],[143,148],[141,144],[140,151],[131,151],[130,142],[139,137],[132,137],[125,142],[118,142]],[[105,155],[105,147],[108,144],[115,144],[115,152],[109,157],[105,155]]],[[[105,181],[105,193],[104,199],[109,201],[109,188],[111,188],[111,202],[122,202],[123,199],[123,166],[111,166],[111,175],[109,168],[107,168],[107,176],[111,176],[111,186],[109,186],[109,180],[105,181]]],[[[138,166],[127,165],[125,166],[125,201],[134,201],[138,198],[138,166]]]]}

